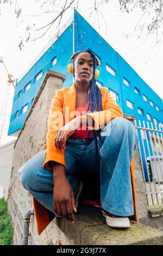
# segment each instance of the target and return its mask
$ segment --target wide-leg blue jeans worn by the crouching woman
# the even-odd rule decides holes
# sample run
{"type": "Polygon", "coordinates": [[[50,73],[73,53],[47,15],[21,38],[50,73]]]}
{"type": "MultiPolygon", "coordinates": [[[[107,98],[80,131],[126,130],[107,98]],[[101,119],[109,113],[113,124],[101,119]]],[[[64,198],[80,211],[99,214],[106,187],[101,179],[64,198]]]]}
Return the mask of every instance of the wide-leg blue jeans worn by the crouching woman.
{"type": "MultiPolygon", "coordinates": [[[[112,119],[98,136],[100,169],[95,162],[95,141],[68,138],[65,149],[65,173],[74,195],[78,191],[78,172],[82,175],[100,172],[101,206],[118,216],[134,215],[130,164],[138,137],[133,124],[125,118],[112,119]],[[80,168],[79,168],[80,167],[80,168]]],[[[53,210],[53,174],[42,168],[46,149],[19,169],[22,186],[49,211],[53,210]]]]}

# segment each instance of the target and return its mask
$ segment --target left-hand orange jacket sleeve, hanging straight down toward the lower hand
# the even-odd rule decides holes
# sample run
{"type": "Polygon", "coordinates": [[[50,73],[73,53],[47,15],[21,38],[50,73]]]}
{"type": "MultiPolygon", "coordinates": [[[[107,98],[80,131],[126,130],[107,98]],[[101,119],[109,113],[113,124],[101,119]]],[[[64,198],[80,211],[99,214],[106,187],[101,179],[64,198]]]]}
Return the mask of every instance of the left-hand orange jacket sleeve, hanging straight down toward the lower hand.
{"type": "Polygon", "coordinates": [[[54,161],[61,163],[65,166],[65,150],[59,151],[54,147],[54,138],[57,135],[59,129],[64,126],[64,118],[63,118],[63,95],[59,90],[56,90],[55,96],[53,97],[51,108],[49,109],[48,115],[48,131],[46,135],[47,141],[47,152],[45,155],[45,161],[43,162],[43,168],[48,170],[52,170],[49,161],[54,161]]]}

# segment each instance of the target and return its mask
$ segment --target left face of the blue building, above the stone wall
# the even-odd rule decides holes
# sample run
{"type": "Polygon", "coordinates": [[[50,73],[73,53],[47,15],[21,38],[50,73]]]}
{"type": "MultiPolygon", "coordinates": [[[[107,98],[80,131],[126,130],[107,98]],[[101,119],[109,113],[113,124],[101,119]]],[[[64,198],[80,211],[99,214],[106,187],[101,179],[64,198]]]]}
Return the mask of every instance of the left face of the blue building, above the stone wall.
{"type": "MultiPolygon", "coordinates": [[[[53,39],[29,65],[27,71],[16,80],[14,100],[12,103],[8,135],[18,136],[34,97],[40,88],[47,70],[66,75],[64,86],[72,85],[72,76],[67,72],[67,62],[73,51],[73,19],[69,20],[66,29],[61,31],[58,41],[53,39]]],[[[63,29],[62,29],[63,30],[63,29]]]]}

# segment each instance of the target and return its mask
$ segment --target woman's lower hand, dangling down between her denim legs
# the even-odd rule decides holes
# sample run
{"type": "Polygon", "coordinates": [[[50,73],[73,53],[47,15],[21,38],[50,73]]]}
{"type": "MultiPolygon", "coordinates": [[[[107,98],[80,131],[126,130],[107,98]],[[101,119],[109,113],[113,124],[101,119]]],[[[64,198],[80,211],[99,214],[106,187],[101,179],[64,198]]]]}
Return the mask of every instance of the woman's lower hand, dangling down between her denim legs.
{"type": "Polygon", "coordinates": [[[75,204],[73,189],[66,177],[55,179],[53,191],[54,211],[74,223],[73,212],[77,212],[75,204]]]}

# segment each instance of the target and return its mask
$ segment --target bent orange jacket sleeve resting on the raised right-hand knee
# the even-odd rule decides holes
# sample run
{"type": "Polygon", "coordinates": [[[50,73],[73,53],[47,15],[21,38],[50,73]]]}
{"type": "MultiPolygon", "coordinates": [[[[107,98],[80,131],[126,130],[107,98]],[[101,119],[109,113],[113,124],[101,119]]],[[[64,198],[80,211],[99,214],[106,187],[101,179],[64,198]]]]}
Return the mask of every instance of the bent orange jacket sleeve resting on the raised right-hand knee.
{"type": "Polygon", "coordinates": [[[87,128],[91,130],[99,130],[109,123],[112,119],[116,117],[123,117],[123,112],[120,106],[117,105],[114,98],[108,92],[108,88],[106,89],[106,98],[105,105],[103,111],[93,112],[86,115],[90,115],[92,119],[95,121],[95,127],[92,124],[88,124],[87,128]]]}

